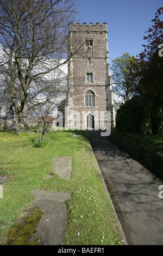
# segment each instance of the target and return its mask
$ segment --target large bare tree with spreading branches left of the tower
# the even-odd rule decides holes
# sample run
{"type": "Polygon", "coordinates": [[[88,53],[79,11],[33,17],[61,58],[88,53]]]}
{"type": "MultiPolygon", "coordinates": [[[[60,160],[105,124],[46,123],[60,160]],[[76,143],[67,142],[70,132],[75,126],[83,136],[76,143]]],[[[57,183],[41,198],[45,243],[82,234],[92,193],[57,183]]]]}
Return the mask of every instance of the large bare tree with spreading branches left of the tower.
{"type": "Polygon", "coordinates": [[[55,87],[49,74],[68,61],[68,24],[75,15],[73,0],[0,1],[0,43],[4,52],[0,69],[9,76],[8,90],[18,124],[28,128],[32,102],[52,85],[55,87]]]}

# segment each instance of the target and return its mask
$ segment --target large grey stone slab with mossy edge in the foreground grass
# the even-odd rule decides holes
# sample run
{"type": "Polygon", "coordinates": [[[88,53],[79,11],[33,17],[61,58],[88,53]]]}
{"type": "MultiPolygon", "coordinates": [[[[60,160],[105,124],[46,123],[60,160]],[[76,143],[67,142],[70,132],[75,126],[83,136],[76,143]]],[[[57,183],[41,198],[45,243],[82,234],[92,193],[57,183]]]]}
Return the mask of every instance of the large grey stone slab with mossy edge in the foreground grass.
{"type": "Polygon", "coordinates": [[[66,231],[67,206],[66,200],[71,199],[70,193],[36,190],[36,198],[31,208],[39,208],[43,214],[36,225],[36,233],[29,241],[37,241],[38,245],[64,245],[62,237],[66,231]]]}

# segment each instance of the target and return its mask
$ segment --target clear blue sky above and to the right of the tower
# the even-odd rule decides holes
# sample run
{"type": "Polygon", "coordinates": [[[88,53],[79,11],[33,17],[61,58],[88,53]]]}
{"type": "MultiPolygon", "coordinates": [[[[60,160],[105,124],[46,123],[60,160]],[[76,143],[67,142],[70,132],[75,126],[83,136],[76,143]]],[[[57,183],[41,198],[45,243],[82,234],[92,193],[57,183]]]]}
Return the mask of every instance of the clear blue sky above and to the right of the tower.
{"type": "Polygon", "coordinates": [[[108,23],[109,64],[111,60],[129,52],[136,57],[145,44],[143,36],[152,26],[156,10],[162,0],[76,0],[77,21],[108,23]]]}

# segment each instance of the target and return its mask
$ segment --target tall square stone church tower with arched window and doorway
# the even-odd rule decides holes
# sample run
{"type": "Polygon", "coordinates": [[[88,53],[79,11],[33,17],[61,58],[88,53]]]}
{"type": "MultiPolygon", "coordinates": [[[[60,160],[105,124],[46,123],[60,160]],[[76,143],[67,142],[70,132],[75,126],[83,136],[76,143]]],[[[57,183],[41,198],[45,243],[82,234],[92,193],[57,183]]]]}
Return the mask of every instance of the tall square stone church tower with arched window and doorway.
{"type": "MultiPolygon", "coordinates": [[[[68,121],[74,119],[77,128],[99,129],[106,124],[106,111],[112,106],[107,24],[70,23],[68,42],[68,121]]],[[[65,120],[65,126],[67,126],[65,120]]]]}

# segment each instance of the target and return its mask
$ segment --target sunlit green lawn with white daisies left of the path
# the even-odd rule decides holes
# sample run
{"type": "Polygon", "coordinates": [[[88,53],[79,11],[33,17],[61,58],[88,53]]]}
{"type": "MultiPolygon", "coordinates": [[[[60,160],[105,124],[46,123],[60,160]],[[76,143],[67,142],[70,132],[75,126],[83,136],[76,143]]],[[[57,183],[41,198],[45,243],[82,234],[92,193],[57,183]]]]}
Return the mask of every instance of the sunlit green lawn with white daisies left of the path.
{"type": "Polygon", "coordinates": [[[80,131],[47,133],[49,144],[35,148],[34,133],[0,133],[0,175],[8,176],[0,198],[0,241],[5,231],[33,204],[33,190],[62,191],[72,194],[67,201],[68,221],[65,245],[121,245],[121,232],[105,192],[95,157],[85,133],[80,131]],[[72,156],[70,180],[52,173],[55,156],[72,156]],[[45,179],[46,174],[53,177],[45,179]]]}

